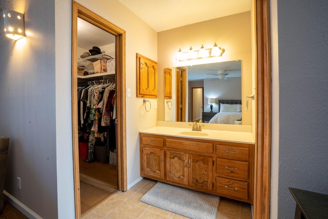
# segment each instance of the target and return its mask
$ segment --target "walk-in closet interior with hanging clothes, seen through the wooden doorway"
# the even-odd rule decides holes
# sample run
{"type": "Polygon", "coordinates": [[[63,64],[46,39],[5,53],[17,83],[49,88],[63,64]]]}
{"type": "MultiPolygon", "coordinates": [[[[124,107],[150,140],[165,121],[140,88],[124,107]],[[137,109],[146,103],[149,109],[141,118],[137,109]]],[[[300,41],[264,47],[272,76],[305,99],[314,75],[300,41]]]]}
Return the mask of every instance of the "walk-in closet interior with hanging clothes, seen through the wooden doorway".
{"type": "Polygon", "coordinates": [[[78,18],[77,109],[81,211],[117,189],[115,36],[78,18]]]}

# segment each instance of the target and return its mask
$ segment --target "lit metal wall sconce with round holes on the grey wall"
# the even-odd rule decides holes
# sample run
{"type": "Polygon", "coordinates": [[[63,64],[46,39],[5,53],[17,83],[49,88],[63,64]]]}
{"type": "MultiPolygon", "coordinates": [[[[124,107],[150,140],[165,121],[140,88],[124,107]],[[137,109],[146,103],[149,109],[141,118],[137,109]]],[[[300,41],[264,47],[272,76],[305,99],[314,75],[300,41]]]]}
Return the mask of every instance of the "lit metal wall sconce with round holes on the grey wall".
{"type": "Polygon", "coordinates": [[[11,39],[20,39],[25,36],[24,14],[6,10],[4,11],[5,34],[11,39]]]}

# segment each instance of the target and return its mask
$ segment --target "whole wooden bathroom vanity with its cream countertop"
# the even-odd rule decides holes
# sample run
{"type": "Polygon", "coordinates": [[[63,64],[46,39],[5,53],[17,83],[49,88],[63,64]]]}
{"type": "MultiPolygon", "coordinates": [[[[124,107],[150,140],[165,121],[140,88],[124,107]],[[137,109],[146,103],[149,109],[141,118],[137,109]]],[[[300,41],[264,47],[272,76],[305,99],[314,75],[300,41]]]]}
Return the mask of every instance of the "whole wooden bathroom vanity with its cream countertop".
{"type": "Polygon", "coordinates": [[[253,204],[249,133],[155,127],[139,135],[141,176],[253,204]]]}

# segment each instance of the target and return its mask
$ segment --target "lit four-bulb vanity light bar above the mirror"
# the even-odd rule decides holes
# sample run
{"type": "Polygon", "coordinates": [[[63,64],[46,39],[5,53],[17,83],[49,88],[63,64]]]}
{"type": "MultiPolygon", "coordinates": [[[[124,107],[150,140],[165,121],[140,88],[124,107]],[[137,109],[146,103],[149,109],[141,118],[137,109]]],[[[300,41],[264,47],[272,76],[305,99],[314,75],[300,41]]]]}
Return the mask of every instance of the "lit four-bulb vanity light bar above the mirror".
{"type": "Polygon", "coordinates": [[[190,47],[188,52],[182,52],[182,50],[179,49],[176,59],[178,61],[187,61],[199,58],[219,57],[222,56],[223,53],[224,49],[218,47],[215,43],[213,48],[210,49],[205,49],[203,45],[201,45],[199,50],[193,50],[193,48],[190,47]]]}

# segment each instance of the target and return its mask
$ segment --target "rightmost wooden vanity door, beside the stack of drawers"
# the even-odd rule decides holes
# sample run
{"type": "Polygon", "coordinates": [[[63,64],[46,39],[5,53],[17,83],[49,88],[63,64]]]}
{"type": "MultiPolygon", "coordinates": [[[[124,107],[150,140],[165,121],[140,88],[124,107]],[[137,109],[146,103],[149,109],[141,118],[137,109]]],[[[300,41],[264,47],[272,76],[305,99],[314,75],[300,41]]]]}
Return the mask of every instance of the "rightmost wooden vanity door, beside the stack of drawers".
{"type": "Polygon", "coordinates": [[[213,157],[189,154],[189,185],[213,190],[213,157]]]}

